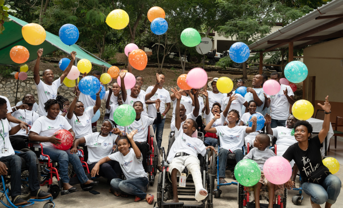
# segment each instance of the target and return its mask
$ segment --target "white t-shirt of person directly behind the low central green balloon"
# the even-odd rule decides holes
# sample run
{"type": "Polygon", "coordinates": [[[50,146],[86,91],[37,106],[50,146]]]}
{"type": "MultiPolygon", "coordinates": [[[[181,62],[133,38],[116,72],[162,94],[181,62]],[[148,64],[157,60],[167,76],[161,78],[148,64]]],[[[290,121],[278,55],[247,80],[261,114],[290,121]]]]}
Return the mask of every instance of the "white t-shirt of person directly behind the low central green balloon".
{"type": "Polygon", "coordinates": [[[135,120],[134,123],[125,127],[125,130],[127,133],[131,133],[133,130],[138,130],[138,132],[134,135],[134,141],[146,142],[149,126],[154,123],[154,120],[154,118],[150,118],[149,116],[140,115],[140,119],[138,121],[135,120]]]}

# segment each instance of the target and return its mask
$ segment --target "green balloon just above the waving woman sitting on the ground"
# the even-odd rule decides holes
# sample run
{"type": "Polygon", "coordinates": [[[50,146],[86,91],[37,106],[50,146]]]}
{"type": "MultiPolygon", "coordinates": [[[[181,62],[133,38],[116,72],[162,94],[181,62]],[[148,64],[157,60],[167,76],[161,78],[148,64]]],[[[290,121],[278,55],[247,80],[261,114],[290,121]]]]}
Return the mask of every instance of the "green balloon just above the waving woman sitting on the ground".
{"type": "Polygon", "coordinates": [[[119,105],[113,113],[113,120],[116,124],[122,127],[129,126],[136,119],[136,110],[128,104],[119,105]]]}

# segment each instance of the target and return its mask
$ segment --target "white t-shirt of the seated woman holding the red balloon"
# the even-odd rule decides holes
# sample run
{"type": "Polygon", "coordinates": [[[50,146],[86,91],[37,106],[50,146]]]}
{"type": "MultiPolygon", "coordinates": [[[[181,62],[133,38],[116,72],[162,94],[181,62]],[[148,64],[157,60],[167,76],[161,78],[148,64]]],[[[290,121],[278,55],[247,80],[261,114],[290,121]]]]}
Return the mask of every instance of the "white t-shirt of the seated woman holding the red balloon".
{"type": "MultiPolygon", "coordinates": [[[[52,136],[58,130],[70,130],[71,126],[63,116],[57,116],[55,120],[50,120],[46,116],[39,117],[32,126],[30,131],[34,131],[40,136],[52,136]]],[[[55,146],[51,142],[41,142],[43,147],[55,146]]]]}

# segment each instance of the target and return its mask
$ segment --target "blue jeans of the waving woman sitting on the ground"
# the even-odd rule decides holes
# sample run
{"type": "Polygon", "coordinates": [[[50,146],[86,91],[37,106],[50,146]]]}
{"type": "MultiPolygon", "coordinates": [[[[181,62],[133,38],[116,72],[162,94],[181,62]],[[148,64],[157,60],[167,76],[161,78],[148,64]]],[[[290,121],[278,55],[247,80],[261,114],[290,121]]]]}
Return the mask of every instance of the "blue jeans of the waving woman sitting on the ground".
{"type": "Polygon", "coordinates": [[[121,179],[112,179],[111,187],[118,192],[124,192],[145,199],[145,191],[148,190],[148,183],[149,180],[146,177],[127,179],[125,181],[121,179]]]}

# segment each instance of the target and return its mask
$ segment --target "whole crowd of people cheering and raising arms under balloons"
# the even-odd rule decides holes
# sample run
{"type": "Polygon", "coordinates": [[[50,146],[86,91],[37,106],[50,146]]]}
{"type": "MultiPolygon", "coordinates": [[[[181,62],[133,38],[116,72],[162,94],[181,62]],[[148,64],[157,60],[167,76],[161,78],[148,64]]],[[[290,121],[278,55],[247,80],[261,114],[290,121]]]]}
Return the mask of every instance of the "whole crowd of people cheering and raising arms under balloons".
{"type": "MultiPolygon", "coordinates": [[[[149,183],[146,173],[149,152],[147,137],[148,132],[156,135],[154,138],[157,146],[161,147],[166,115],[171,108],[171,102],[173,103],[171,131],[174,132],[175,141],[169,150],[167,162],[174,191],[173,202],[178,202],[176,178],[185,167],[193,176],[195,199],[200,201],[206,198],[208,193],[203,187],[197,155],[205,156],[206,149],[216,154],[218,139],[220,139],[219,183],[226,183],[227,157],[229,153],[234,153],[237,162],[242,159],[253,159],[262,171],[260,182],[254,186],[256,208],[259,207],[257,199],[262,184],[267,185],[270,197],[274,197],[274,184],[268,182],[263,175],[264,162],[275,156],[274,152],[268,149],[271,140],[267,134],[276,138],[277,156],[286,158],[293,168],[291,179],[285,183],[286,187],[295,187],[294,181],[300,171],[301,185],[304,192],[311,196],[312,207],[318,207],[319,204],[326,202],[326,208],[330,208],[340,193],[341,181],[334,175],[327,176],[319,184],[309,182],[311,173],[324,166],[320,148],[330,125],[331,106],[328,97],[324,105],[318,104],[325,111],[323,128],[317,136],[310,138],[312,127],[309,122],[298,121],[289,112],[290,105],[294,104],[294,94],[289,86],[281,84],[280,91],[274,96],[264,93],[262,87],[268,76],[256,75],[252,80],[253,87],[247,88],[244,97],[236,94],[235,91],[220,93],[216,87],[218,78],[208,78],[202,90],[174,88],[171,89],[170,95],[169,91],[163,88],[166,79],[164,75],[156,74],[156,84],[144,91],[141,89],[143,85],[141,76],[136,77],[133,88],[126,89],[124,84],[126,72],[122,71],[118,75],[121,85],[114,82],[105,93],[105,119],[100,132],[97,132],[97,122],[91,121],[101,106],[101,89],[94,100],[91,96],[80,92],[76,86],[75,97],[71,103],[57,93],[72,67],[76,52],[71,52],[71,61],[58,79],[54,80],[53,71],[47,69],[43,71],[43,81],[39,76],[42,52],[43,49],[38,50],[38,58],[34,66],[38,105],[32,94],[25,95],[22,102],[12,108],[7,98],[0,96],[2,124],[0,135],[4,141],[3,144],[0,142],[2,149],[0,174],[7,174],[7,167],[3,163],[7,162],[11,169],[12,202],[16,206],[28,203],[20,196],[20,157],[25,158],[29,166],[31,196],[37,199],[51,197],[50,193],[39,189],[36,180],[35,154],[31,151],[14,153],[14,150],[26,147],[27,139],[40,142],[43,153],[60,164],[59,174],[63,189],[68,190],[69,193],[77,191],[76,187],[69,184],[69,163],[72,164],[82,189],[99,184],[88,179],[85,174],[77,154],[77,149],[82,147],[91,176],[105,177],[111,193],[117,197],[135,195],[135,201],[145,199],[151,204],[154,196],[145,193],[149,183]],[[205,101],[199,94],[203,95],[205,101]],[[121,104],[129,104],[136,111],[135,121],[126,127],[117,125],[113,120],[113,113],[121,104]],[[263,130],[256,130],[257,118],[251,117],[256,113],[262,114],[266,120],[263,130]],[[204,129],[203,118],[206,119],[204,129]],[[248,126],[249,122],[252,122],[251,127],[248,126]],[[54,144],[61,144],[61,140],[56,137],[57,130],[69,130],[73,136],[74,143],[70,150],[63,151],[54,147],[54,144]],[[197,138],[198,130],[206,132],[205,142],[197,138]],[[242,150],[244,145],[252,147],[246,156],[242,150]],[[122,175],[126,180],[120,179],[122,175]]],[[[128,71],[132,72],[130,64],[128,71]]],[[[93,71],[91,76],[100,79],[101,73],[93,71]]],[[[274,72],[270,78],[279,81],[280,76],[274,72]]],[[[242,79],[238,79],[236,83],[237,87],[245,85],[242,79]]],[[[162,170],[160,162],[158,169],[162,170]]],[[[234,172],[232,176],[235,177],[234,172]]],[[[270,208],[273,207],[273,201],[269,200],[270,208]]]]}

